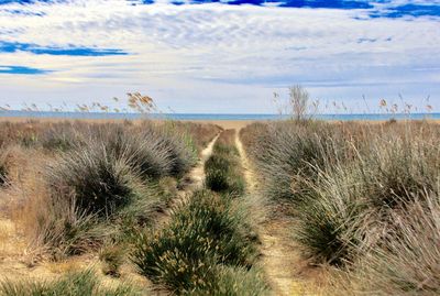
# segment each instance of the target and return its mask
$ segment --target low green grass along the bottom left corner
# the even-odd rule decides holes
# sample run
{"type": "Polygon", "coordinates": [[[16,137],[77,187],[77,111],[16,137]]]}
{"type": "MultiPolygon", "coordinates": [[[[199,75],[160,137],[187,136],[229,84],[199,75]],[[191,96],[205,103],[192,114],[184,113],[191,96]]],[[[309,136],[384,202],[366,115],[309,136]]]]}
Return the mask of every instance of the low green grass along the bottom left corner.
{"type": "Polygon", "coordinates": [[[68,273],[51,282],[3,279],[0,283],[0,295],[4,296],[123,296],[141,295],[134,287],[122,284],[117,287],[105,287],[91,270],[68,273]]]}

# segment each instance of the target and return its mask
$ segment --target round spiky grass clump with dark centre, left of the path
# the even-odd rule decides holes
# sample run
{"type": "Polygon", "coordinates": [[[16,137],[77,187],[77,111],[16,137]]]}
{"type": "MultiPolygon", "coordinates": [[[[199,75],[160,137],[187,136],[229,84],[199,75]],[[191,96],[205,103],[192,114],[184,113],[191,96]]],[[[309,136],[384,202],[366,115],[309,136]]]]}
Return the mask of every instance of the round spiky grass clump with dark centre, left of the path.
{"type": "Polygon", "coordinates": [[[110,216],[139,194],[129,162],[99,143],[63,155],[47,168],[47,184],[52,194],[74,194],[79,210],[98,216],[110,216]]]}

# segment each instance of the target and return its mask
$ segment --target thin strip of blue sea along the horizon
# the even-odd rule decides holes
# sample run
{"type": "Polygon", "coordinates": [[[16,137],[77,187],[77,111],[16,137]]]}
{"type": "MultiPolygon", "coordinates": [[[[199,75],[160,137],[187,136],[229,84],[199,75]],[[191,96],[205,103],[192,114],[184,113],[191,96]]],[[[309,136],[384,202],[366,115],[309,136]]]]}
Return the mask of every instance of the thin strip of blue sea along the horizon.
{"type": "MultiPolygon", "coordinates": [[[[288,119],[288,116],[279,114],[216,114],[216,113],[106,113],[106,112],[52,112],[52,111],[0,111],[0,118],[59,118],[59,119],[169,119],[169,120],[280,120],[288,119]]],[[[362,114],[316,114],[319,120],[367,120],[380,121],[389,119],[438,119],[440,113],[411,113],[411,114],[385,114],[385,113],[362,113],[362,114]]]]}

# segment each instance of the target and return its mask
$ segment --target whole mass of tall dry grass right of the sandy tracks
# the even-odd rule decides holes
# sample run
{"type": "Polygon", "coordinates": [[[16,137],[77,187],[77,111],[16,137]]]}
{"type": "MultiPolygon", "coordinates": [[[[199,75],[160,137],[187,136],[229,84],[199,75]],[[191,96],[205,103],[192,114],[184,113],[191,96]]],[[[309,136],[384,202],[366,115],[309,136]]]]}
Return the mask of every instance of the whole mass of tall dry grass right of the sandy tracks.
{"type": "Polygon", "coordinates": [[[284,122],[242,135],[264,193],[295,204],[286,232],[342,271],[344,294],[439,293],[439,125],[284,122]]]}

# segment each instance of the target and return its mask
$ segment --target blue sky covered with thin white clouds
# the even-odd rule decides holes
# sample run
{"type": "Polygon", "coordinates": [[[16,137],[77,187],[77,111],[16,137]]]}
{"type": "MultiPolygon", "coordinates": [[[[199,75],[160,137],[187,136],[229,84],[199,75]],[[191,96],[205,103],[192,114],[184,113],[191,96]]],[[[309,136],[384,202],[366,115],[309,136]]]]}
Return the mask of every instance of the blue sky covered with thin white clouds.
{"type": "Polygon", "coordinates": [[[0,0],[0,107],[273,113],[299,84],[321,112],[440,111],[439,44],[440,0],[0,0]]]}

